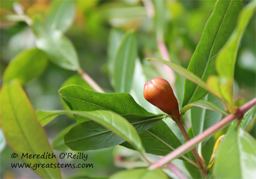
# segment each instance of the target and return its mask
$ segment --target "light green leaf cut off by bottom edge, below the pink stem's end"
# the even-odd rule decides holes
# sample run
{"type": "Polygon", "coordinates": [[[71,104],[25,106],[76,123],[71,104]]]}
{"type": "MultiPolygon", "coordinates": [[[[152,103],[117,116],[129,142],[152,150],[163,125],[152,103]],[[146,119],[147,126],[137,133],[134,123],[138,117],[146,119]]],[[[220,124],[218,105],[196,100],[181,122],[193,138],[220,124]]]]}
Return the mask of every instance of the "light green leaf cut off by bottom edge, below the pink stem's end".
{"type": "Polygon", "coordinates": [[[112,176],[109,177],[110,179],[167,179],[168,176],[161,170],[147,170],[146,168],[139,168],[139,169],[132,169],[132,170],[124,170],[119,171],[112,176]]]}

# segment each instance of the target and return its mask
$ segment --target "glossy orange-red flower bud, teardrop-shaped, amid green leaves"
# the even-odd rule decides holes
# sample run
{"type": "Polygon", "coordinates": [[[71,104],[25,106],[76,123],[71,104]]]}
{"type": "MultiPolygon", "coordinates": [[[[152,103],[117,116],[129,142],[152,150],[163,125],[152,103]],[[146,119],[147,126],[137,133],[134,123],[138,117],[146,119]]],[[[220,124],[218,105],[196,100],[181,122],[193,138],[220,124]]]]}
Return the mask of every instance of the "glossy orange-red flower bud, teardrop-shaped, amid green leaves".
{"type": "Polygon", "coordinates": [[[180,117],[179,105],[172,87],[162,78],[153,78],[144,85],[144,98],[168,115],[180,117]]]}

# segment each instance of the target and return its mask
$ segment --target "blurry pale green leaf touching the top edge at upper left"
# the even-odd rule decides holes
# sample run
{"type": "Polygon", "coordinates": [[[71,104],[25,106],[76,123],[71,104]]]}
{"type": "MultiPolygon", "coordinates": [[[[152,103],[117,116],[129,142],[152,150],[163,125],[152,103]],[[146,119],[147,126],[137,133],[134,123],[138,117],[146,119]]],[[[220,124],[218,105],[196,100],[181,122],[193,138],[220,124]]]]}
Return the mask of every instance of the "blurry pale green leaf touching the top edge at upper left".
{"type": "Polygon", "coordinates": [[[47,25],[54,30],[65,32],[72,25],[75,18],[75,4],[73,1],[53,1],[47,15],[47,25]]]}

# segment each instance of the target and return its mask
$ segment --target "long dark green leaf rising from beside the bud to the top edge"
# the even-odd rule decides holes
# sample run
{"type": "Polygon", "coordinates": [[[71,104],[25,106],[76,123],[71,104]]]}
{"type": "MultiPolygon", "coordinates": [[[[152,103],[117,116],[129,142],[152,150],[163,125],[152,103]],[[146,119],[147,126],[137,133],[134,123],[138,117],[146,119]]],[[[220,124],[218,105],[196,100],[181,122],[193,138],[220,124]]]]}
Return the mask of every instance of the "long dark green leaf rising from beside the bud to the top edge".
{"type": "MultiPolygon", "coordinates": [[[[215,75],[215,56],[226,43],[236,26],[242,1],[217,1],[209,17],[201,40],[189,62],[188,69],[203,81],[215,75]]],[[[202,86],[185,80],[185,91],[182,106],[202,99],[208,92],[202,86]]]]}

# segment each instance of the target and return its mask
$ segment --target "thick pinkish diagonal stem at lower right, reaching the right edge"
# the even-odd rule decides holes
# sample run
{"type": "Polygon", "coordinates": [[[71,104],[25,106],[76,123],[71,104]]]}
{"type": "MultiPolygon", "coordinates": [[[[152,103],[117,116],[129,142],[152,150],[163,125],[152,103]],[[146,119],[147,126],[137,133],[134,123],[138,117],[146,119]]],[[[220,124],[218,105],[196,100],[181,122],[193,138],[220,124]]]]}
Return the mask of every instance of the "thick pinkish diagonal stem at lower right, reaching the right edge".
{"type": "Polygon", "coordinates": [[[173,152],[170,152],[168,155],[166,155],[163,159],[159,160],[158,162],[155,162],[152,164],[149,169],[156,169],[156,168],[161,168],[163,165],[166,163],[179,158],[182,154],[188,152],[195,146],[197,146],[200,142],[203,142],[204,140],[208,139],[212,135],[214,135],[216,132],[220,131],[224,127],[226,127],[228,124],[230,124],[233,120],[235,119],[240,119],[243,117],[243,115],[248,111],[251,107],[256,105],[256,98],[252,99],[245,105],[239,107],[237,109],[236,114],[230,114],[224,119],[222,119],[220,122],[217,124],[211,126],[210,128],[206,129],[203,131],[200,135],[196,136],[195,138],[189,140],[186,142],[184,145],[178,147],[176,150],[173,152]]]}

